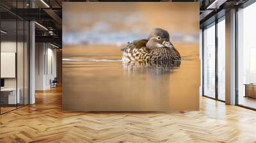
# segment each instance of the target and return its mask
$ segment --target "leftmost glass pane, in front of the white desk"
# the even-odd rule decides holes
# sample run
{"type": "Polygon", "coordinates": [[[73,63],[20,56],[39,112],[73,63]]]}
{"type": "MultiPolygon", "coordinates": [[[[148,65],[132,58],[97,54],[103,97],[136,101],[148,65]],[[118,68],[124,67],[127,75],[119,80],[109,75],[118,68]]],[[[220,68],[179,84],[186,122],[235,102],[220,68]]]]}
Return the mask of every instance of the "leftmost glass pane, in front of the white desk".
{"type": "MultiPolygon", "coordinates": [[[[17,108],[17,21],[1,21],[1,113],[17,108]],[[4,32],[3,32],[4,31],[4,32]]],[[[18,96],[17,96],[18,94],[18,96]]]]}

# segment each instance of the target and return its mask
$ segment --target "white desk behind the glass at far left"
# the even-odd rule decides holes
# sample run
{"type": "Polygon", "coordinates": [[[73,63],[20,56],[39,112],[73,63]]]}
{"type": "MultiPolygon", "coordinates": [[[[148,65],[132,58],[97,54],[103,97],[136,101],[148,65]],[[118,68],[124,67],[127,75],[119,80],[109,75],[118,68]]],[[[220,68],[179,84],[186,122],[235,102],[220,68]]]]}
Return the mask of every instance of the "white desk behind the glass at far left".
{"type": "Polygon", "coordinates": [[[16,98],[16,88],[3,88],[1,89],[1,100],[4,104],[20,103],[20,89],[17,89],[18,94],[16,98]],[[8,101],[8,102],[7,102],[8,101]]]}

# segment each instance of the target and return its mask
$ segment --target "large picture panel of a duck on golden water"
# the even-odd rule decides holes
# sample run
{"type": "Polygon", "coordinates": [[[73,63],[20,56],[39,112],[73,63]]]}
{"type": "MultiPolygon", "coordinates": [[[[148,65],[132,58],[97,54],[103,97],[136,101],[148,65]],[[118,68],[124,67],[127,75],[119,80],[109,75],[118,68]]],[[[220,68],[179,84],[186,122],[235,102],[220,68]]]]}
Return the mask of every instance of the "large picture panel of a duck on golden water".
{"type": "Polygon", "coordinates": [[[63,3],[63,110],[199,110],[199,3],[63,3]]]}

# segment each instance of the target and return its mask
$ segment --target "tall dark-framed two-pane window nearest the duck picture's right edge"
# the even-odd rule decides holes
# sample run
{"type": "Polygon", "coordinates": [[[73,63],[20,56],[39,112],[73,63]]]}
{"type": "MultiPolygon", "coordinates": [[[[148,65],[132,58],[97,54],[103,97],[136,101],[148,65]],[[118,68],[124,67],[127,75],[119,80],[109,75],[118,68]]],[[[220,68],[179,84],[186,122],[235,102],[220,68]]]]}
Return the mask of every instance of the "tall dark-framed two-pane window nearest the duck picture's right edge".
{"type": "Polygon", "coordinates": [[[225,16],[205,27],[203,39],[203,95],[225,101],[225,16]]]}

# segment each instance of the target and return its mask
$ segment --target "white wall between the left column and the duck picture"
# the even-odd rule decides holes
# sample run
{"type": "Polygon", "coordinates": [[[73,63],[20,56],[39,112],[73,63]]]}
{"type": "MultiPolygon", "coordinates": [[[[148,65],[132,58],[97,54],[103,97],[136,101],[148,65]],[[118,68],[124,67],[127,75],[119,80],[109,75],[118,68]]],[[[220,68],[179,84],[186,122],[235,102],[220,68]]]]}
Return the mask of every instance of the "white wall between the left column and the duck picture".
{"type": "Polygon", "coordinates": [[[51,87],[50,80],[56,77],[56,49],[53,48],[49,43],[36,43],[36,90],[49,89],[51,87]]]}

